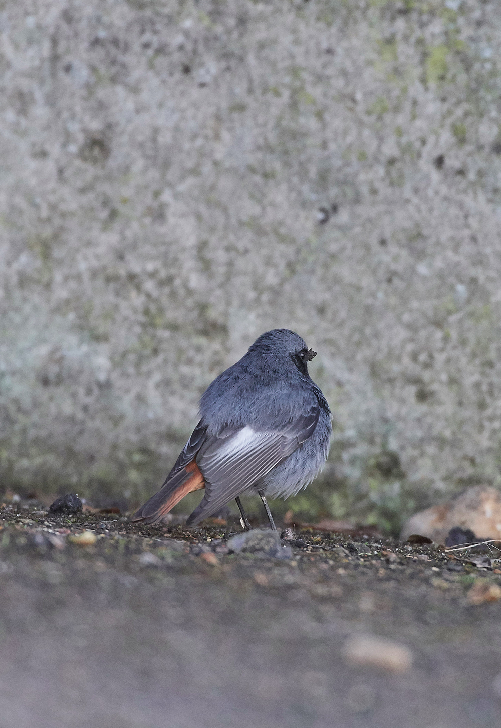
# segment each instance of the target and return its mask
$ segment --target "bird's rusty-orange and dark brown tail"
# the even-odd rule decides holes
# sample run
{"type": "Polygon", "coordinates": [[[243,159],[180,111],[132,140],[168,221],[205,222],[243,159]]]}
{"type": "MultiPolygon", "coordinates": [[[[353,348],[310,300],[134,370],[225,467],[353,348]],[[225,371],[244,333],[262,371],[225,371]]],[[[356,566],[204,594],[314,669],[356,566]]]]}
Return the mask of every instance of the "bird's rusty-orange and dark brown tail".
{"type": "Polygon", "coordinates": [[[201,474],[199,466],[192,460],[186,467],[167,478],[159,492],[151,496],[149,501],[132,515],[130,520],[156,523],[188,493],[200,491],[202,488],[205,488],[204,476],[201,474]]]}

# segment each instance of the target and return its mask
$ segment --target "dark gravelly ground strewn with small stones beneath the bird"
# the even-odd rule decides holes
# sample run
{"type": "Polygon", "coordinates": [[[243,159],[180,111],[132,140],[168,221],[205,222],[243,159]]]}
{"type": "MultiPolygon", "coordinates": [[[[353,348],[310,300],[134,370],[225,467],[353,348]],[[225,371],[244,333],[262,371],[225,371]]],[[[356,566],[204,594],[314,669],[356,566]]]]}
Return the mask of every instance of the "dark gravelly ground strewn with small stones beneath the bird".
{"type": "Polygon", "coordinates": [[[0,529],[1,726],[501,724],[496,561],[315,531],[228,553],[228,526],[22,503],[0,529]]]}

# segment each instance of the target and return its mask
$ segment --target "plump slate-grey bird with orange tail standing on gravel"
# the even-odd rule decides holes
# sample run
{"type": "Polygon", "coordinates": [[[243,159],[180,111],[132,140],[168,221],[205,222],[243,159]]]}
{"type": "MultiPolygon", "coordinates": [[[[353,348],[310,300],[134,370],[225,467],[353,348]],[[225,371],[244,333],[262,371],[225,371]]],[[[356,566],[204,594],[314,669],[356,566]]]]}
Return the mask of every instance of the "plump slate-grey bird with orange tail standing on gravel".
{"type": "Polygon", "coordinates": [[[188,493],[204,489],[187,526],[197,526],[241,495],[259,495],[276,530],[266,496],[297,494],[318,475],[329,454],[332,415],[310,378],[316,356],[294,331],[266,331],[241,360],[201,396],[199,423],[160,490],[131,521],[157,523],[188,493]]]}

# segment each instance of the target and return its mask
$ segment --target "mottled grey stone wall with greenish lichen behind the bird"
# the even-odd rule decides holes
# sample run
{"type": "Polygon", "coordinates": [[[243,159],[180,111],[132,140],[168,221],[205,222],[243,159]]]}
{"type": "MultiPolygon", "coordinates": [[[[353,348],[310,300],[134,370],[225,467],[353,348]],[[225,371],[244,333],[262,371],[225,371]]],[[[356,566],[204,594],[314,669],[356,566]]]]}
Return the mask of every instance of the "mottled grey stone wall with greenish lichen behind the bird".
{"type": "Polygon", "coordinates": [[[143,497],[268,328],[335,417],[313,505],[501,484],[498,0],[7,1],[2,483],[143,497]]]}

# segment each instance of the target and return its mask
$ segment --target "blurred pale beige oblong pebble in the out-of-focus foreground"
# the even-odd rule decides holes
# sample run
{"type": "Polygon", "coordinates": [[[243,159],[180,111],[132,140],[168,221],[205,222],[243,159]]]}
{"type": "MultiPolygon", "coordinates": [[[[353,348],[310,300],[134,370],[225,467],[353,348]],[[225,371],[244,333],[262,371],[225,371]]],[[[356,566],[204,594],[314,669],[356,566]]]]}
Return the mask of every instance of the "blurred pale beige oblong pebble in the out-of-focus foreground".
{"type": "Polygon", "coordinates": [[[372,635],[351,637],[345,642],[342,653],[353,667],[366,665],[392,673],[405,673],[412,668],[409,647],[372,635]]]}

